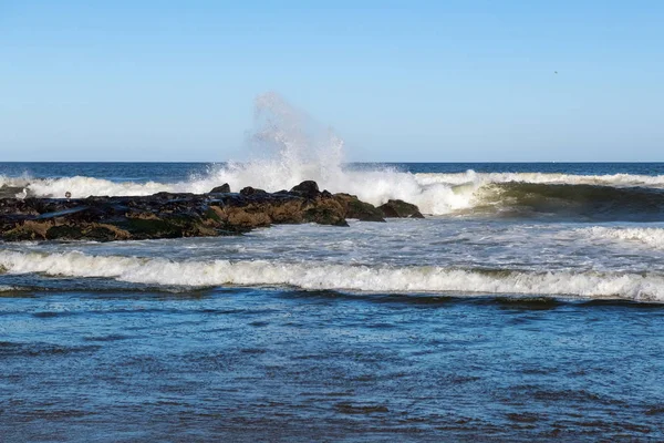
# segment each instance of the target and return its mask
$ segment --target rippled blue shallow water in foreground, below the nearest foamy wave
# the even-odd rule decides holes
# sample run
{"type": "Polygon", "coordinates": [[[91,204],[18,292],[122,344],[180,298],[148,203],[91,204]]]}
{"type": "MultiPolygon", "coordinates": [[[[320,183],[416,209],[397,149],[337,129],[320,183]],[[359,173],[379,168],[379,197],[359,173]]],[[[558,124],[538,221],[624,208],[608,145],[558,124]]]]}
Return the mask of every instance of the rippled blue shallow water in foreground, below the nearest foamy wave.
{"type": "Polygon", "coordinates": [[[661,306],[249,288],[0,306],[4,441],[664,439],[661,306]]]}

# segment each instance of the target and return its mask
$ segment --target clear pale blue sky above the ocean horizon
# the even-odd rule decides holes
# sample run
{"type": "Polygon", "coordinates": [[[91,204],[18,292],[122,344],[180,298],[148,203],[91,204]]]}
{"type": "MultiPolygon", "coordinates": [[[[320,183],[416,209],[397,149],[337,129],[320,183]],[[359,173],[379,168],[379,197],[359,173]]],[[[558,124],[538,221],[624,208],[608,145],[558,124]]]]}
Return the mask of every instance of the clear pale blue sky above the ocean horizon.
{"type": "Polygon", "coordinates": [[[0,0],[0,161],[242,159],[267,91],[350,161],[664,161],[664,1],[0,0]]]}

